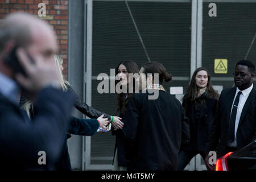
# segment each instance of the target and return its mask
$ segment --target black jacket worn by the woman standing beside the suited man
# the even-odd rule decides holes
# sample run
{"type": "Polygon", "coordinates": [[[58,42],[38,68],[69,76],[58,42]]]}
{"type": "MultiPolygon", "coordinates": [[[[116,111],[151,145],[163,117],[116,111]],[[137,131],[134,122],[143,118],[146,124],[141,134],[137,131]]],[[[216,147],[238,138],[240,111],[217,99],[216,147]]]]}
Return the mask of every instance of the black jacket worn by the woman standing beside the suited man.
{"type": "Polygon", "coordinates": [[[190,141],[183,148],[185,151],[205,152],[206,150],[218,103],[217,98],[207,97],[207,92],[208,90],[187,106],[185,115],[189,119],[190,141]]]}

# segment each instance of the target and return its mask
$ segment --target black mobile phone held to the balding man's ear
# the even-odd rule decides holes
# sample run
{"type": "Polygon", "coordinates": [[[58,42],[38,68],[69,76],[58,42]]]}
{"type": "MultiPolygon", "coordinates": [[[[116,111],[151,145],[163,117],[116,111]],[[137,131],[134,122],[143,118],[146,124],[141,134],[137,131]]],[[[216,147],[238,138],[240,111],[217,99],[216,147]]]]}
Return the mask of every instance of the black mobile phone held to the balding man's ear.
{"type": "MultiPolygon", "coordinates": [[[[16,56],[16,50],[18,49],[18,47],[15,47],[10,53],[9,55],[7,55],[4,59],[4,62],[6,65],[8,65],[11,69],[13,69],[13,71],[15,73],[22,73],[24,76],[27,76],[26,71],[24,70],[24,68],[22,67],[22,65],[20,65],[18,57],[16,56]]],[[[34,60],[32,59],[32,57],[27,53],[28,59],[30,59],[31,63],[34,63],[34,60]]]]}

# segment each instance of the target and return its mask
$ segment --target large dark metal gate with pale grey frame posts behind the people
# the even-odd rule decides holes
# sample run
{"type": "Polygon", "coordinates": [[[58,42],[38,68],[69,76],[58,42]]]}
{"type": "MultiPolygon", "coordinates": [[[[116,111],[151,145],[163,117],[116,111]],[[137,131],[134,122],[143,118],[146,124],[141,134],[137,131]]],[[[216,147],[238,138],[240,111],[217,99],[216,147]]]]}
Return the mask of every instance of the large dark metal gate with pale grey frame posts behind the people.
{"type": "MultiPolygon", "coordinates": [[[[218,92],[233,86],[234,64],[246,55],[249,60],[256,58],[256,51],[250,51],[255,50],[256,8],[255,1],[225,2],[85,0],[83,93],[86,103],[116,115],[116,96],[97,93],[100,82],[97,75],[110,75],[110,69],[123,59],[135,60],[139,67],[148,59],[160,61],[173,75],[173,80],[164,84],[167,92],[171,92],[170,87],[176,86],[182,87],[185,92],[193,72],[201,66],[208,68],[212,84],[218,92]],[[209,15],[210,3],[216,4],[217,16],[209,15]],[[241,14],[241,9],[242,20],[236,14],[241,14]],[[238,23],[232,27],[232,22],[238,23]],[[242,48],[239,49],[240,44],[237,46],[236,43],[240,43],[242,48]],[[214,72],[214,59],[228,60],[225,75],[214,72]]],[[[176,97],[180,100],[182,94],[176,97]]],[[[82,169],[111,170],[114,140],[111,134],[83,137],[82,169]]],[[[206,168],[201,156],[197,155],[185,169],[206,168]]]]}

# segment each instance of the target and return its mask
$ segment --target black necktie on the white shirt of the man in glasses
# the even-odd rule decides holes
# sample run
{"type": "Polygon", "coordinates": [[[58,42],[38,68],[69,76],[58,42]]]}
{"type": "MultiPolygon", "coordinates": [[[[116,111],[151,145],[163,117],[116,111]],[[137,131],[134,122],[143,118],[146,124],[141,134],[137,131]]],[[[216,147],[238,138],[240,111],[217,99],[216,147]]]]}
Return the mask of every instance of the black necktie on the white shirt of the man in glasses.
{"type": "Polygon", "coordinates": [[[237,93],[237,97],[236,97],[236,100],[234,101],[232,113],[231,113],[230,120],[229,120],[228,141],[230,143],[232,143],[234,141],[234,130],[235,130],[235,125],[236,125],[237,107],[238,107],[239,98],[240,98],[241,93],[242,93],[241,91],[237,93]]]}

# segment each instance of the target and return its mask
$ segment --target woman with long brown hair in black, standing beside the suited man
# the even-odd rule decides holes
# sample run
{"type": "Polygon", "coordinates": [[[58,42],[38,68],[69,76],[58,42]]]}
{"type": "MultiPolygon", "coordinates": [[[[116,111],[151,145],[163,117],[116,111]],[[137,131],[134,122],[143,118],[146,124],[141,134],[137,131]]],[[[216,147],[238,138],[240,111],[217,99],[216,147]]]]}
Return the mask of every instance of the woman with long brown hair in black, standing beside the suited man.
{"type": "Polygon", "coordinates": [[[219,97],[210,82],[208,70],[197,68],[183,97],[182,105],[189,118],[190,141],[186,146],[181,146],[178,170],[183,170],[197,154],[205,159],[207,139],[219,97]]]}

